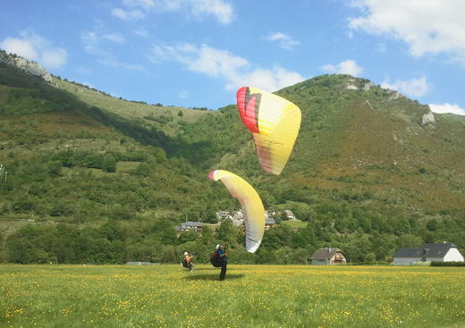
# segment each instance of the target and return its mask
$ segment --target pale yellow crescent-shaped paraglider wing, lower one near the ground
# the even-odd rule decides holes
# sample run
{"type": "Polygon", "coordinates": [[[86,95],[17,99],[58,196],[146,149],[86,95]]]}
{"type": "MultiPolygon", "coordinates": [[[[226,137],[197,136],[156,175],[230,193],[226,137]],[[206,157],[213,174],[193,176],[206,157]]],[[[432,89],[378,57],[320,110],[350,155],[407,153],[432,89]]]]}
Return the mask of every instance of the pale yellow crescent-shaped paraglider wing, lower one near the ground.
{"type": "Polygon", "coordinates": [[[257,191],[249,185],[249,182],[232,172],[216,170],[210,172],[208,178],[222,181],[232,197],[237,198],[241,203],[244,212],[246,248],[249,253],[255,253],[265,231],[265,208],[257,191]]]}

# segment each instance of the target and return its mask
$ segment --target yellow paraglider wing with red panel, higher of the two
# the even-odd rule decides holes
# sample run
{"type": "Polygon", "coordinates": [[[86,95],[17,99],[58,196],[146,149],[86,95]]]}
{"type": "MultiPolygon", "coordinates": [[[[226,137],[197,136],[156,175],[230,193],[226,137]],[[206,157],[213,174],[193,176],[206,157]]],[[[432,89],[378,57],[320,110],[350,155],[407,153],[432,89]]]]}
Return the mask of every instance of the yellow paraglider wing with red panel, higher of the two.
{"type": "Polygon", "coordinates": [[[252,132],[262,168],[280,174],[299,134],[299,107],[283,97],[252,87],[238,90],[237,107],[242,122],[252,132]]]}

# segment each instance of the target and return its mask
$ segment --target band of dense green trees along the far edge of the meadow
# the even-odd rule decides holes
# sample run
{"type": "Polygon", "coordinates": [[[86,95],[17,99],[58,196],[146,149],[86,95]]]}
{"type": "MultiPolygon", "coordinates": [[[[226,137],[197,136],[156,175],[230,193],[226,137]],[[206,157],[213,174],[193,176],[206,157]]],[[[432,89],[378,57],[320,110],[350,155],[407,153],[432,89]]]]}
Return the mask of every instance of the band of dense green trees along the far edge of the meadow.
{"type": "MultiPolygon", "coordinates": [[[[282,222],[265,231],[256,254],[245,247],[245,232],[231,220],[202,232],[176,229],[176,220],[122,222],[107,220],[95,227],[71,223],[28,223],[12,234],[0,234],[0,261],[18,264],[123,264],[127,261],[179,263],[185,251],[198,263],[207,263],[217,243],[230,249],[236,264],[305,264],[317,248],[340,248],[349,263],[387,263],[398,248],[418,247],[423,242],[442,242],[449,234],[444,224],[428,222],[423,234],[353,233],[337,231],[324,222],[292,229],[282,222]]],[[[453,224],[452,224],[453,225],[453,224]]],[[[458,231],[457,238],[463,238],[458,231]]],[[[450,240],[449,240],[450,241],[450,240]]],[[[454,240],[452,240],[454,241],[454,240]]]]}

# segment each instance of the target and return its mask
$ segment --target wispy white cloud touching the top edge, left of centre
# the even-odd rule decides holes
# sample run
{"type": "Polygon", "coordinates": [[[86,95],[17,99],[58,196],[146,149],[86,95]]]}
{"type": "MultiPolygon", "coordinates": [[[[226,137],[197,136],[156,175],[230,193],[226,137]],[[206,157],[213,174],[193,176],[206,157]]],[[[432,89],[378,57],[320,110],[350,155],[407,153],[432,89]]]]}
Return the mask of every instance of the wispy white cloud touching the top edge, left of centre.
{"type": "Polygon", "coordinates": [[[233,20],[232,5],[224,0],[123,0],[127,9],[114,8],[112,14],[124,21],[139,20],[148,13],[183,12],[201,19],[213,16],[227,25],[233,20]]]}

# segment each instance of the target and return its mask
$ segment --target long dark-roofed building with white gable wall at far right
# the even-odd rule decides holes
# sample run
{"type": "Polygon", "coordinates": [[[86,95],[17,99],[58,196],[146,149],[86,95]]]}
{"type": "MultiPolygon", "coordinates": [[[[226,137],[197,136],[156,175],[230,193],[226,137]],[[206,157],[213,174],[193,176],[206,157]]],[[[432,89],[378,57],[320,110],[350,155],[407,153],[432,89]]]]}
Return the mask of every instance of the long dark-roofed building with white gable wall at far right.
{"type": "Polygon", "coordinates": [[[427,243],[419,248],[401,248],[393,256],[393,265],[431,262],[464,262],[464,258],[452,242],[427,243]]]}

